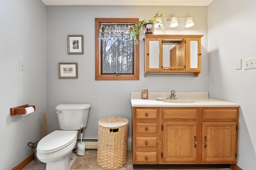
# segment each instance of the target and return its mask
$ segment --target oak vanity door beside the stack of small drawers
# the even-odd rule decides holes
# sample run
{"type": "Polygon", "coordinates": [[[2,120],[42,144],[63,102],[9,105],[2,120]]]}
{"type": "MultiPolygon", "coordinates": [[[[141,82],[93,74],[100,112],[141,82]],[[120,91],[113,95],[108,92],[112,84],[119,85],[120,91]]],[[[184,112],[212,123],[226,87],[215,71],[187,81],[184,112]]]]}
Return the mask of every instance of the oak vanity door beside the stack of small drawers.
{"type": "Polygon", "coordinates": [[[163,122],[164,163],[192,164],[196,162],[196,122],[163,122]]]}

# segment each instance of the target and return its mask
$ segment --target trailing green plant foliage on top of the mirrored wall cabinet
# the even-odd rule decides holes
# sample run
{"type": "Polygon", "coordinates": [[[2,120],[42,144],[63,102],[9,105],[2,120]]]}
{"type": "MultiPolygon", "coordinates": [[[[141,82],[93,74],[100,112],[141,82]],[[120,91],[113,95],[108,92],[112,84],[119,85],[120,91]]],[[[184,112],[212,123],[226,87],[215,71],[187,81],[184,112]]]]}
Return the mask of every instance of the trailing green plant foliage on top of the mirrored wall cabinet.
{"type": "Polygon", "coordinates": [[[138,23],[136,23],[134,29],[132,29],[131,32],[130,32],[130,35],[132,35],[132,37],[133,37],[134,44],[139,43],[138,40],[137,40],[136,35],[138,35],[140,33],[140,30],[141,30],[142,26],[145,23],[151,22],[151,23],[154,23],[154,24],[158,24],[158,27],[162,31],[165,31],[165,26],[162,24],[162,22],[157,20],[158,17],[162,17],[162,16],[163,16],[163,10],[161,11],[160,15],[159,15],[159,12],[156,12],[155,16],[150,20],[141,20],[138,23]]]}

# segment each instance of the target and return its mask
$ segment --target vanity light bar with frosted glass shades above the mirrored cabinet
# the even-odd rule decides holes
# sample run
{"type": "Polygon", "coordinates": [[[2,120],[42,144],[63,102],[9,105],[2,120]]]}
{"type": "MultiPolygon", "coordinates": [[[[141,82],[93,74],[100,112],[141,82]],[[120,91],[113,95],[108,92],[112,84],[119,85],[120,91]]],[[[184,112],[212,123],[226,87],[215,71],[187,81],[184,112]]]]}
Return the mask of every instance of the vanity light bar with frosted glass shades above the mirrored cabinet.
{"type": "MultiPolygon", "coordinates": [[[[192,27],[194,24],[192,16],[190,16],[189,11],[186,14],[186,17],[176,17],[174,15],[174,12],[168,17],[161,17],[161,18],[167,18],[167,21],[170,23],[170,27],[177,27],[179,25],[177,18],[186,18],[186,25],[185,27],[192,27]]],[[[161,20],[162,21],[162,20],[161,20]]],[[[162,23],[162,22],[161,22],[162,23]]]]}

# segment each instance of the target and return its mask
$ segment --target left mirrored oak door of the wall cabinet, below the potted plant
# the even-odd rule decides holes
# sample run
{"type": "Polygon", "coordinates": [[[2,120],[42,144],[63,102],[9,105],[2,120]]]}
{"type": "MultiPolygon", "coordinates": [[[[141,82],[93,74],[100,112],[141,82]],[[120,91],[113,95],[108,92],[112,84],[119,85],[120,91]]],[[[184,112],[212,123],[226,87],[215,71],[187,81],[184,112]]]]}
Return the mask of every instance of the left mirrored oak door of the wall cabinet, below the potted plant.
{"type": "Polygon", "coordinates": [[[162,38],[148,38],[145,46],[147,71],[162,71],[162,38]]]}

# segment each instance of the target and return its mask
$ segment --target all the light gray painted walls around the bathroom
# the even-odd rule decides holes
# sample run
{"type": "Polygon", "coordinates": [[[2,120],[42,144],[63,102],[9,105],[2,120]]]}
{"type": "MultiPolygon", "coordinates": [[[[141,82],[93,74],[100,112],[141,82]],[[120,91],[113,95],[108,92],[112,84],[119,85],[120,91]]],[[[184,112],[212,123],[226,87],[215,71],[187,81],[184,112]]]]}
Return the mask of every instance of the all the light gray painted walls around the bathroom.
{"type": "MultiPolygon", "coordinates": [[[[244,70],[243,60],[242,70],[235,70],[235,60],[255,57],[255,7],[256,2],[251,0],[235,4],[232,0],[214,0],[208,7],[46,7],[40,0],[0,1],[0,61],[4,70],[0,84],[0,135],[3,138],[0,149],[5,153],[0,160],[1,168],[11,169],[32,154],[33,150],[27,143],[43,137],[43,113],[47,114],[47,133],[59,129],[54,113],[57,104],[91,104],[84,138],[95,138],[98,137],[98,120],[101,118],[122,116],[131,121],[130,92],[148,88],[149,91],[209,91],[212,98],[239,103],[238,165],[244,170],[252,170],[256,160],[256,91],[253,90],[256,69],[244,70]],[[185,16],[189,10],[195,22],[195,26],[188,29],[183,27],[185,20],[180,19],[180,25],[170,29],[163,20],[166,34],[204,35],[199,77],[144,77],[144,41],[141,35],[140,80],[95,81],[94,18],[148,19],[162,9],[164,16],[172,11],[176,16],[185,16]],[[84,55],[67,54],[67,35],[75,34],[84,35],[84,55]],[[25,62],[25,71],[19,70],[20,60],[25,62]],[[78,79],[59,79],[60,62],[77,62],[78,79]],[[211,74],[216,74],[215,83],[211,82],[211,74]],[[10,108],[23,104],[36,105],[35,113],[10,117],[10,108]]],[[[162,32],[157,30],[156,33],[162,32]]]]}

